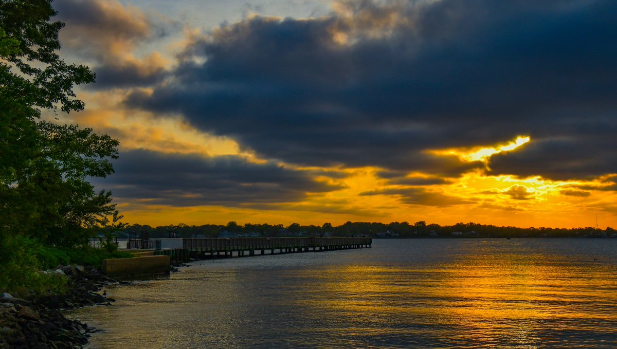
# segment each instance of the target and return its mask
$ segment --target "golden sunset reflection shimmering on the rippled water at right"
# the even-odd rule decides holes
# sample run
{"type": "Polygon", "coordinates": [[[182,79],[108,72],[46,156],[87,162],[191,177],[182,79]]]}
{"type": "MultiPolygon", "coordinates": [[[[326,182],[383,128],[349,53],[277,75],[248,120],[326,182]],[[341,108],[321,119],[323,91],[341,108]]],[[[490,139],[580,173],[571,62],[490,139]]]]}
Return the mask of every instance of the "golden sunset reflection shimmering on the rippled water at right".
{"type": "Polygon", "coordinates": [[[315,283],[321,289],[313,290],[314,294],[332,296],[313,299],[313,313],[346,318],[352,326],[344,330],[358,331],[358,335],[383,331],[363,324],[367,317],[394,320],[386,327],[400,326],[397,321],[407,319],[417,326],[455,328],[450,344],[477,343],[466,347],[508,343],[539,348],[536,343],[544,339],[538,332],[547,326],[552,331],[592,329],[615,334],[615,328],[589,327],[602,326],[597,321],[613,325],[617,321],[616,279],[606,277],[614,273],[614,266],[577,265],[566,255],[486,255],[471,250],[447,263],[421,267],[348,265],[305,271],[322,281],[315,283]],[[612,311],[603,310],[602,303],[612,311]],[[586,324],[586,319],[593,324],[586,324]]]}

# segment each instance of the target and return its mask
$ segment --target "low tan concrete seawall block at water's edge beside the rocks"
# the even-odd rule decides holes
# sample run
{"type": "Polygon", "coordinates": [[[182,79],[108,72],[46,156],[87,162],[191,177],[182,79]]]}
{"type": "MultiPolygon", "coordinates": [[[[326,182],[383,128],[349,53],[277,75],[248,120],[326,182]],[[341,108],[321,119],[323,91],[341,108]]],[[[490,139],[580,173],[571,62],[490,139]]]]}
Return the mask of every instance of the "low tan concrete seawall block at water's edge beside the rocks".
{"type": "Polygon", "coordinates": [[[141,275],[168,274],[169,256],[143,256],[103,260],[101,271],[109,277],[133,277],[141,275]]]}

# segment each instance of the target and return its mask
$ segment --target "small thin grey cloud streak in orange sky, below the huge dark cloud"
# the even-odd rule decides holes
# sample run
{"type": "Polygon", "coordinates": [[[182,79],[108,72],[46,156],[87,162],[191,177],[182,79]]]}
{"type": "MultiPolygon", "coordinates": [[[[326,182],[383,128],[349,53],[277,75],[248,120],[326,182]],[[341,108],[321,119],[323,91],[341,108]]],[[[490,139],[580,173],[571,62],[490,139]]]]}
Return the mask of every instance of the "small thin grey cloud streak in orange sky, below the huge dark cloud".
{"type": "Polygon", "coordinates": [[[375,191],[362,192],[360,195],[396,195],[403,203],[437,207],[473,203],[473,201],[470,200],[445,195],[441,192],[427,191],[426,189],[420,187],[378,189],[375,191]]]}

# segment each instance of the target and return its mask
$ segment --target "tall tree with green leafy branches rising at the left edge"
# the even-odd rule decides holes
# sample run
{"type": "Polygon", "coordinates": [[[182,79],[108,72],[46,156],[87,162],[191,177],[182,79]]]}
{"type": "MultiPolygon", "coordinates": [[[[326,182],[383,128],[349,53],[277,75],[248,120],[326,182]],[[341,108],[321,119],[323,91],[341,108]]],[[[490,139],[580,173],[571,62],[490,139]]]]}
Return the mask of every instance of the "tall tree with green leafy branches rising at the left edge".
{"type": "MultiPolygon", "coordinates": [[[[114,213],[111,193],[89,177],[114,170],[118,141],[46,120],[83,110],[73,86],[94,82],[85,65],[58,54],[62,22],[51,0],[0,2],[0,249],[17,234],[43,244],[81,244],[114,213]],[[49,118],[48,118],[49,119],[49,118]]],[[[2,252],[2,251],[0,251],[2,252]]]]}

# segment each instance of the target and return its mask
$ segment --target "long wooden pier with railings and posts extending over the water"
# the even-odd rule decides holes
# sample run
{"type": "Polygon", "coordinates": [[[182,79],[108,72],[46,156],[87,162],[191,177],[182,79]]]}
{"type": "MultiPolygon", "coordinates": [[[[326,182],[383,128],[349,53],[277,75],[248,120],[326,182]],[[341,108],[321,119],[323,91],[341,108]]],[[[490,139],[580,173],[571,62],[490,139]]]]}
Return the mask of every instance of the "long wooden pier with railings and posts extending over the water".
{"type": "Polygon", "coordinates": [[[182,248],[157,250],[172,260],[230,258],[371,247],[371,237],[231,237],[182,239],[182,248]]]}

